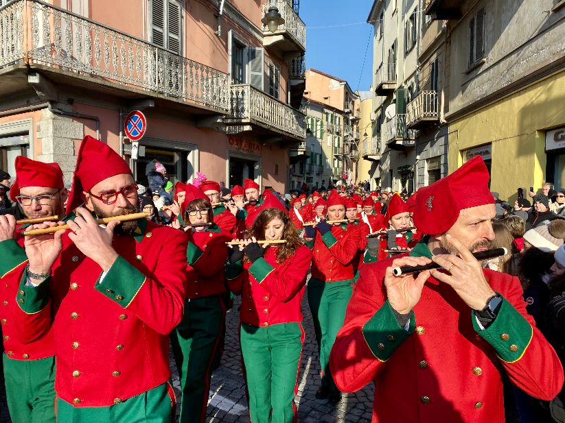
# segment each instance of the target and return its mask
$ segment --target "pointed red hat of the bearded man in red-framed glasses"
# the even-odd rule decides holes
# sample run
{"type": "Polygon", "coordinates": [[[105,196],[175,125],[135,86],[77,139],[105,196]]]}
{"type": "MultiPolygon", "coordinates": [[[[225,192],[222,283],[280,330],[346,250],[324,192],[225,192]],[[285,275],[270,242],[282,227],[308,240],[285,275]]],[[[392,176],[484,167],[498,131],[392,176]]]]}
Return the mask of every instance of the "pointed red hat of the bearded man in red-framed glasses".
{"type": "Polygon", "coordinates": [[[83,191],[87,193],[98,182],[124,173],[131,175],[130,167],[108,144],[90,135],[82,138],[73,174],[73,190],[65,210],[67,215],[83,203],[83,191]]]}

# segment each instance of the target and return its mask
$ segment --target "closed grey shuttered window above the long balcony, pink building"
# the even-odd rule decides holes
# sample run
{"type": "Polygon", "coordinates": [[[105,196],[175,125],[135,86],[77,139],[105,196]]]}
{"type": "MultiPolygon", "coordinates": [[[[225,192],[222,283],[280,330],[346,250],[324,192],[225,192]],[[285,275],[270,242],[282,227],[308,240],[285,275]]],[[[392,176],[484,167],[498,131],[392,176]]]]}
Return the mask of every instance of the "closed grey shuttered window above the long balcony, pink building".
{"type": "Polygon", "coordinates": [[[151,43],[180,55],[182,53],[181,4],[176,0],[151,0],[151,43]]]}

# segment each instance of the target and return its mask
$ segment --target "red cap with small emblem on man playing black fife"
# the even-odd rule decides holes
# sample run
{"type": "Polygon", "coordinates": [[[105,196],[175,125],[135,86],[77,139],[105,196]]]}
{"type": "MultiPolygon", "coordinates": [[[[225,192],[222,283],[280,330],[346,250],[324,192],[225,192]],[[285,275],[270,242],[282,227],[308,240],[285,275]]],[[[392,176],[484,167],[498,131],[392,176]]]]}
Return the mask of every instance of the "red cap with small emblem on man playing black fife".
{"type": "Polygon", "coordinates": [[[415,227],[424,234],[443,234],[464,208],[494,204],[488,183],[485,162],[481,156],[475,156],[451,175],[418,189],[415,227]]]}

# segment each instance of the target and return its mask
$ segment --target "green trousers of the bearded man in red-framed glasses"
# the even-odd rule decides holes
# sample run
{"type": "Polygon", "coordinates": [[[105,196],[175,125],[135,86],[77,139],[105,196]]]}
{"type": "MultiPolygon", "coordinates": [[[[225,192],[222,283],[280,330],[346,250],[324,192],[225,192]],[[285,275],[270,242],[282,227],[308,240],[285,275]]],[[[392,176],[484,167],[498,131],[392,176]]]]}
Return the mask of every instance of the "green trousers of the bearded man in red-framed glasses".
{"type": "Polygon", "coordinates": [[[171,423],[174,407],[172,386],[163,383],[108,407],[74,407],[57,398],[57,423],[171,423]]]}

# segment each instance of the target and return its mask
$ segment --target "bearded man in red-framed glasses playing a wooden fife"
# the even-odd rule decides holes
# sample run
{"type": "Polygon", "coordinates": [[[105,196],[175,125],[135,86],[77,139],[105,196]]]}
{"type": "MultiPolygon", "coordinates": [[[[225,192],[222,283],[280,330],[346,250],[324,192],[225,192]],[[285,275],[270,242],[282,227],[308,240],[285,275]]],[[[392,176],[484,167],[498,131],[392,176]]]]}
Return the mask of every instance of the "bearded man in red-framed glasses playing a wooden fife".
{"type": "Polygon", "coordinates": [[[16,335],[30,343],[54,331],[58,423],[174,416],[169,333],[183,317],[187,236],[145,218],[102,228],[91,215],[137,213],[138,202],[126,162],[86,136],[67,204],[67,214],[76,209],[70,230],[25,239],[16,335]]]}

